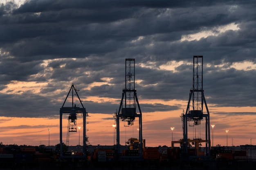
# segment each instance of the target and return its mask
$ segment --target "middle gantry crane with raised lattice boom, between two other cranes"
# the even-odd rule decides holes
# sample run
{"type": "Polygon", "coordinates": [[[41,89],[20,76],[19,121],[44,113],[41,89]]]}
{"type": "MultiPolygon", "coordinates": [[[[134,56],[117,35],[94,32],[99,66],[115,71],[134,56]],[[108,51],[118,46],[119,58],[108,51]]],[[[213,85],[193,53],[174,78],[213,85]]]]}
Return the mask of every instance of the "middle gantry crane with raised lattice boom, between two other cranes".
{"type": "Polygon", "coordinates": [[[142,113],[135,90],[135,59],[126,59],[125,89],[123,89],[119,110],[116,113],[117,121],[117,151],[120,151],[120,126],[119,121],[126,121],[132,126],[135,117],[139,117],[139,157],[142,157],[142,113]],[[136,113],[138,107],[139,113],[136,113]]]}

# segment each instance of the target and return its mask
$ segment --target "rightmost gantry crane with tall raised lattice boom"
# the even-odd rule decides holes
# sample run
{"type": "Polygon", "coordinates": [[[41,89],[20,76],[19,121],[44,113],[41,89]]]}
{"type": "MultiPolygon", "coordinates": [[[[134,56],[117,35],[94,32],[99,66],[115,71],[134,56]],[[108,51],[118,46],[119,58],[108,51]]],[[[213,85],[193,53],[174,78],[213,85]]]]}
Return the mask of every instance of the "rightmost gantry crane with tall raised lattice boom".
{"type": "MultiPolygon", "coordinates": [[[[204,157],[210,157],[210,114],[207,103],[204,97],[203,90],[203,56],[193,56],[193,89],[189,93],[189,102],[186,108],[186,113],[182,113],[182,128],[183,128],[183,149],[184,153],[188,155],[188,123],[191,122],[193,126],[200,125],[202,119],[205,118],[205,147],[206,154],[204,157]],[[190,110],[191,98],[193,101],[190,110]],[[203,113],[203,105],[205,105],[207,113],[203,113]]],[[[200,139],[201,140],[201,139],[200,139]]],[[[199,155],[198,153],[195,154],[199,155]]]]}

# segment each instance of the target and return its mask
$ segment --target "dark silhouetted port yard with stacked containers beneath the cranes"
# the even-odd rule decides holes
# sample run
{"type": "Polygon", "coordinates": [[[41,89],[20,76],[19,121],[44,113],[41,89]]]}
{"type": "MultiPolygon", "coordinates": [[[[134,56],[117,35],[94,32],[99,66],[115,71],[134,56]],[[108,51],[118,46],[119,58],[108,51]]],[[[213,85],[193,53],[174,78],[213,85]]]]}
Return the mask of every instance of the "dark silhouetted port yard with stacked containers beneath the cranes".
{"type": "MultiPolygon", "coordinates": [[[[233,170],[256,169],[256,146],[213,147],[208,160],[191,159],[181,161],[180,147],[146,147],[143,158],[137,159],[138,150],[128,150],[124,146],[117,153],[113,146],[88,146],[86,159],[83,152],[76,151],[79,146],[70,146],[70,151],[64,152],[65,159],[60,157],[59,148],[36,146],[1,146],[0,169],[40,169],[40,170],[80,170],[80,169],[113,169],[113,170],[233,170]],[[119,159],[120,156],[128,156],[119,159]],[[135,159],[133,159],[133,157],[135,159]]],[[[205,150],[205,148],[200,148],[205,150]]],[[[193,148],[189,149],[193,155],[193,148]]]]}

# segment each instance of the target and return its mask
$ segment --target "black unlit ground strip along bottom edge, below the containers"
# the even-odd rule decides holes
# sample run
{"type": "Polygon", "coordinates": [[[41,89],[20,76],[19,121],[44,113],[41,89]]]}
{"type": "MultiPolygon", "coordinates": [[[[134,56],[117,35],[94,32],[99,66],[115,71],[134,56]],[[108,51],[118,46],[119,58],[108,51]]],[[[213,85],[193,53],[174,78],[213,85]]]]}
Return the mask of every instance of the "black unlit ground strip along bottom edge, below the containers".
{"type": "Polygon", "coordinates": [[[112,162],[40,162],[1,163],[0,170],[256,170],[249,161],[112,161],[112,162]]]}

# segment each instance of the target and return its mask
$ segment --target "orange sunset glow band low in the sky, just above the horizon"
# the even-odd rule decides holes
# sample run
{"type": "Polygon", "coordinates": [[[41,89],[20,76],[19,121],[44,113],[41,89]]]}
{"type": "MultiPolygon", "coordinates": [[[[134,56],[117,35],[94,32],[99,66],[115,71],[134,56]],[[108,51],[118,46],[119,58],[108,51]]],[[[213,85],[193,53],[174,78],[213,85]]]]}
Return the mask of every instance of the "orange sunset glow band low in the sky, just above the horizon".
{"type": "MultiPolygon", "coordinates": [[[[184,106],[185,107],[185,106],[184,106]]],[[[254,135],[253,124],[256,115],[235,115],[235,112],[247,111],[253,112],[255,107],[240,107],[240,108],[214,108],[210,107],[213,112],[210,116],[210,123],[214,124],[214,145],[220,144],[226,146],[226,129],[228,132],[228,144],[232,146],[245,145],[250,143],[250,137],[254,135]],[[234,110],[232,119],[228,115],[225,115],[225,111],[230,112],[234,110]],[[228,124],[225,124],[228,122],[228,124]],[[243,126],[240,126],[243,124],[243,126]]],[[[58,110],[56,110],[58,112],[58,110]]],[[[155,113],[143,113],[143,139],[146,139],[146,146],[171,146],[171,130],[173,126],[173,140],[180,140],[182,136],[182,121],[180,115],[182,110],[173,112],[155,112],[155,113]]],[[[113,145],[113,127],[115,119],[110,114],[100,113],[88,113],[87,117],[87,135],[91,145],[113,145]]],[[[55,115],[51,118],[18,118],[18,117],[1,117],[1,134],[0,139],[4,144],[18,144],[18,145],[32,145],[39,146],[40,144],[48,145],[48,130],[50,131],[50,145],[56,145],[59,143],[59,115],[55,115]]],[[[82,126],[82,118],[77,120],[77,126],[82,126]]],[[[122,123],[121,123],[121,126],[122,123]]],[[[204,124],[196,126],[198,130],[204,130],[204,124]],[[202,127],[200,127],[202,126],[202,127]]],[[[137,132],[138,122],[135,121],[134,126],[121,127],[120,143],[125,145],[125,141],[130,137],[138,138],[137,132]]],[[[81,131],[82,132],[82,131],[81,131]]],[[[196,132],[194,134],[193,128],[189,133],[189,137],[204,138],[203,133],[196,132]]],[[[66,142],[67,135],[67,117],[63,116],[63,142],[66,142]]],[[[70,146],[78,145],[79,132],[70,132],[70,146]]],[[[212,131],[211,131],[212,135],[212,131]]],[[[81,133],[82,137],[82,133],[81,133]]],[[[82,138],[80,139],[82,141],[82,138]]],[[[81,142],[80,141],[80,142],[81,142]]],[[[252,144],[256,144],[256,141],[252,139],[252,144]]],[[[177,144],[176,144],[177,145],[177,144]]]]}

